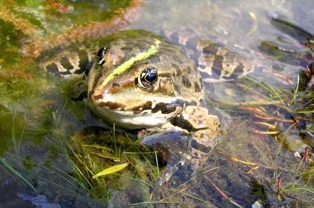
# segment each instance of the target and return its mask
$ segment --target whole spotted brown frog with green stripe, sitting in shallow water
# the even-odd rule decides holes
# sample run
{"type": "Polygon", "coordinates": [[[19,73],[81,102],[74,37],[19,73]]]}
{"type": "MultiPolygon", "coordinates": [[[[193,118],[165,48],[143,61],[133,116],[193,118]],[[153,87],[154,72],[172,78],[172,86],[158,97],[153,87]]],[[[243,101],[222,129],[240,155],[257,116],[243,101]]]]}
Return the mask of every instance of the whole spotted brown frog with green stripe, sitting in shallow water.
{"type": "MultiPolygon", "coordinates": [[[[187,32],[180,44],[171,40],[179,39],[176,31],[165,36],[169,39],[138,31],[136,37],[114,40],[96,53],[97,47],[77,48],[72,58],[61,52],[41,67],[64,77],[84,74],[75,82],[74,88],[81,89],[76,97],[86,98],[90,109],[116,127],[187,135],[188,154],[177,164],[189,163],[195,175],[216,146],[221,128],[220,118],[202,106],[205,82],[234,78],[234,71],[246,74],[252,67],[224,47],[195,39],[194,33],[187,32]],[[194,49],[182,47],[193,38],[198,44],[194,49]],[[83,62],[73,61],[83,53],[89,59],[84,72],[83,62]],[[196,55],[199,62],[194,61],[196,55]],[[226,70],[218,74],[213,71],[217,68],[226,70]]],[[[177,170],[177,165],[169,167],[164,181],[177,170]]]]}

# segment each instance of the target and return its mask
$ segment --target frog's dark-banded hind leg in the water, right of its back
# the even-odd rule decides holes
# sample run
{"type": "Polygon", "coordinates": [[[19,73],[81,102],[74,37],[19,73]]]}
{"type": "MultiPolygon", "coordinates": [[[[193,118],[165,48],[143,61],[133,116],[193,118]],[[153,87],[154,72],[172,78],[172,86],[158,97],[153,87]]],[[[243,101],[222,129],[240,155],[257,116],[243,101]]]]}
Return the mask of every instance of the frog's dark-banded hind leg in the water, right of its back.
{"type": "MultiPolygon", "coordinates": [[[[251,73],[256,66],[253,61],[246,60],[234,51],[243,51],[244,48],[233,44],[234,51],[224,47],[226,41],[217,37],[209,37],[204,34],[187,30],[186,28],[165,29],[164,35],[175,43],[185,46],[186,54],[198,64],[203,82],[214,83],[236,79],[239,75],[251,73]]],[[[246,54],[255,53],[247,51],[246,54]]]]}

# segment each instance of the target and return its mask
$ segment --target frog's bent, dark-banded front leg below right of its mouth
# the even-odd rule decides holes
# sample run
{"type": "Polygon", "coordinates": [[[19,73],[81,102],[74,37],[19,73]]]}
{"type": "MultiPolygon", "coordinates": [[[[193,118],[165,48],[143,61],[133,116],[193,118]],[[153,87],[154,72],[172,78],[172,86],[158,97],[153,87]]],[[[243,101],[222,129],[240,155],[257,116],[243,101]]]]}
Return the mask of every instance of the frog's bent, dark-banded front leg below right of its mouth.
{"type": "Polygon", "coordinates": [[[184,165],[187,162],[190,163],[195,175],[196,170],[204,164],[210,151],[217,144],[220,127],[219,118],[210,114],[207,108],[200,106],[187,106],[172,124],[190,134],[189,155],[182,155],[182,159],[170,168],[165,175],[166,181],[177,171],[178,164],[184,165]]]}

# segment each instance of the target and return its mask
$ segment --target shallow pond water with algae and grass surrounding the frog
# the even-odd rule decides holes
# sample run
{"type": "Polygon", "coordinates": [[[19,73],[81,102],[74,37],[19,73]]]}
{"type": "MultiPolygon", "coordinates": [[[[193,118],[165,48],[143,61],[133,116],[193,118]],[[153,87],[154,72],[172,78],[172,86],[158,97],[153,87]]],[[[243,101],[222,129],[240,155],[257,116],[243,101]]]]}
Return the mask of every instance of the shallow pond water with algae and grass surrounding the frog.
{"type": "MultiPolygon", "coordinates": [[[[31,207],[26,195],[18,193],[45,195],[56,207],[233,207],[232,202],[251,207],[257,200],[264,206],[292,202],[298,207],[295,199],[299,206],[314,203],[313,165],[311,169],[293,154],[314,146],[313,108],[312,113],[294,113],[311,97],[294,100],[293,91],[299,74],[313,62],[313,51],[305,45],[303,33],[292,34],[283,28],[285,23],[272,20],[287,20],[311,35],[313,1],[1,1],[0,5],[1,206],[31,207]],[[38,66],[47,55],[106,41],[114,32],[142,29],[163,36],[166,28],[179,27],[218,37],[215,42],[230,50],[240,46],[236,49],[243,50],[236,52],[259,68],[247,77],[207,86],[207,105],[223,110],[217,111],[220,115],[228,114],[222,116],[217,149],[197,178],[190,181],[190,172],[183,167],[169,183],[159,185],[155,154],[139,144],[136,133],[113,133],[112,125],[104,124],[83,103],[68,99],[68,80],[38,66]],[[91,178],[101,169],[128,161],[132,165],[121,172],[125,177],[91,178]],[[279,176],[285,191],[280,200],[279,176]]],[[[178,139],[182,135],[150,137],[167,145],[169,163],[178,159],[173,152],[186,148],[184,139],[178,139]]]]}

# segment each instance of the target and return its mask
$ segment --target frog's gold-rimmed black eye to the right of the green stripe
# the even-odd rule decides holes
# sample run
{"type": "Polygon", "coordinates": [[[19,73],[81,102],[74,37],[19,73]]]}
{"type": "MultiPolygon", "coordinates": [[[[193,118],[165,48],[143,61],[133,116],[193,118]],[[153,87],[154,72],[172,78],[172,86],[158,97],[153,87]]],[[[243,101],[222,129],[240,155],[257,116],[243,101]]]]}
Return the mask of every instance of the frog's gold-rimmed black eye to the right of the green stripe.
{"type": "Polygon", "coordinates": [[[158,83],[158,71],[155,67],[144,69],[138,77],[138,83],[141,87],[152,89],[158,83]]]}

